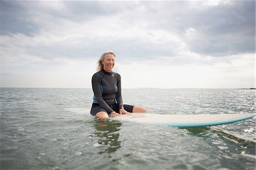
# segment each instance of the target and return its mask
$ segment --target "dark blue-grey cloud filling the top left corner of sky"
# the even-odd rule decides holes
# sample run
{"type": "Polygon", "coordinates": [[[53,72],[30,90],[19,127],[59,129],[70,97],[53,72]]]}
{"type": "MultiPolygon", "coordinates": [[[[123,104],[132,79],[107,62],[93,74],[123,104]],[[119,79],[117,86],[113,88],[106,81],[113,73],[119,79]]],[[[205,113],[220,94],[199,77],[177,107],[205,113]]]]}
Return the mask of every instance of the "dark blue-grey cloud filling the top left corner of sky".
{"type": "Polygon", "coordinates": [[[63,9],[57,10],[40,5],[45,3],[44,1],[1,1],[0,3],[1,35],[21,33],[27,36],[37,34],[47,23],[56,24],[58,19],[77,23],[88,22],[97,16],[106,17],[122,10],[132,9],[134,4],[134,2],[59,1],[63,9]]]}

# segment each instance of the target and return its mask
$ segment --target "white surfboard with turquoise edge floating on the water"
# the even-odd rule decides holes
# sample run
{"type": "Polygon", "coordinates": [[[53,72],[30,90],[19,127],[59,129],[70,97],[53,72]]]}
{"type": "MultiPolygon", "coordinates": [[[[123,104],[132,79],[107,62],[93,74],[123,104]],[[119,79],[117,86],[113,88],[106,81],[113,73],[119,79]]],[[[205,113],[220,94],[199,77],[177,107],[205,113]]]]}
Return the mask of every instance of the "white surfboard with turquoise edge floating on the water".
{"type": "Polygon", "coordinates": [[[130,113],[114,117],[119,121],[166,125],[172,127],[201,127],[234,123],[253,118],[256,114],[197,114],[197,115],[166,115],[150,113],[130,113]]]}

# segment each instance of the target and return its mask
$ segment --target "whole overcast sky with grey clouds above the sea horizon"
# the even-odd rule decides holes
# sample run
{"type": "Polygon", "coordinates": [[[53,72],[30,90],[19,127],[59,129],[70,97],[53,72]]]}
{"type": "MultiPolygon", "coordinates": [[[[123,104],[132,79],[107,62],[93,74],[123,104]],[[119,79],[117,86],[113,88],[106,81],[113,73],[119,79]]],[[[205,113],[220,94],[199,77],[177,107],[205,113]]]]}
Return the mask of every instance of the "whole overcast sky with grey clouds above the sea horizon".
{"type": "Polygon", "coordinates": [[[255,1],[0,1],[0,87],[255,88],[255,1]]]}

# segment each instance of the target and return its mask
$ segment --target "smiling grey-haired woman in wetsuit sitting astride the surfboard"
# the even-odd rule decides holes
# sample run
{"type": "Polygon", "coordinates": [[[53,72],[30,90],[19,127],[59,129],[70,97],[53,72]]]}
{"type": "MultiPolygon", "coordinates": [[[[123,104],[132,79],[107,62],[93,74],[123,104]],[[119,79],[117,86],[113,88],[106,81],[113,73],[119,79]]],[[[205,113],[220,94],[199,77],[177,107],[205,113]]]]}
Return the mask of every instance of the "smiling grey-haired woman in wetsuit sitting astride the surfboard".
{"type": "Polygon", "coordinates": [[[94,96],[90,114],[99,119],[108,119],[130,112],[146,113],[144,107],[123,105],[121,76],[112,72],[115,65],[115,53],[113,51],[104,52],[97,64],[98,72],[92,77],[94,96]]]}

